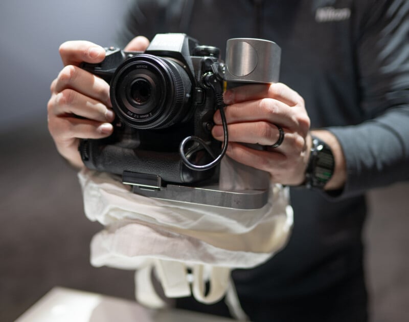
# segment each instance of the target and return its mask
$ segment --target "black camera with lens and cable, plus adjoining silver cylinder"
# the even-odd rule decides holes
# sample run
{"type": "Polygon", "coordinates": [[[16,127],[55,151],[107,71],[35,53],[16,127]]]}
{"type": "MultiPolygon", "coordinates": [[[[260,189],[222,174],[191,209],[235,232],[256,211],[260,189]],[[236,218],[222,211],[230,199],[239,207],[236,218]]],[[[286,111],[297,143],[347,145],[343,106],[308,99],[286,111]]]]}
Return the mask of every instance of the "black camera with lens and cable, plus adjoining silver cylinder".
{"type": "Polygon", "coordinates": [[[82,63],[81,68],[109,83],[116,114],[111,136],[81,140],[84,164],[148,190],[217,181],[228,144],[225,85],[277,81],[280,64],[280,48],[274,42],[229,41],[226,63],[219,48],[179,33],[155,35],[144,52],[110,47],[101,63],[82,63]],[[266,68],[261,61],[274,63],[266,68]],[[223,147],[211,135],[217,109],[223,120],[223,147]]]}

